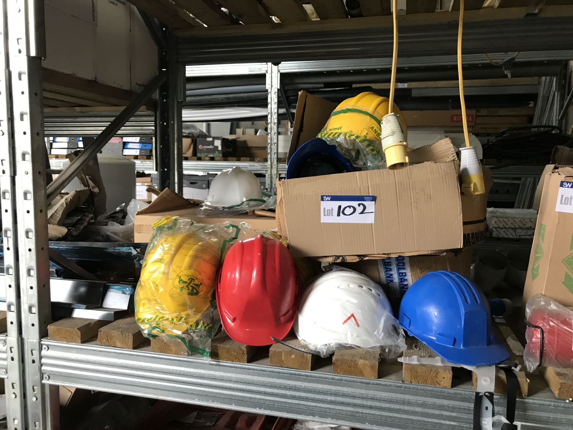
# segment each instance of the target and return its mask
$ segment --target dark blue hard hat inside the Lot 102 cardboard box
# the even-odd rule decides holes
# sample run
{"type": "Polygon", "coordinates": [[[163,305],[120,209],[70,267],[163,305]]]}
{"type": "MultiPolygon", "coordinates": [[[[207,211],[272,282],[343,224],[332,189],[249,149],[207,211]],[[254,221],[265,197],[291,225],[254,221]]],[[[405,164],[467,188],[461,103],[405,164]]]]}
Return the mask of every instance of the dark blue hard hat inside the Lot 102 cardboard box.
{"type": "Polygon", "coordinates": [[[286,179],[354,171],[336,146],[314,138],[300,146],[286,166],[286,179]]]}

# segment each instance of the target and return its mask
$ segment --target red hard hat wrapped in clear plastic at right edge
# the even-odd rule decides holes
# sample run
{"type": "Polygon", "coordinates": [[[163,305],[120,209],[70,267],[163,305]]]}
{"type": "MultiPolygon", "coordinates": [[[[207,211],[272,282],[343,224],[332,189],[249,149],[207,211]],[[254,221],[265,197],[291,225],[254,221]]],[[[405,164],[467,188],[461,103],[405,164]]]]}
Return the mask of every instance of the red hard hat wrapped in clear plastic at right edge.
{"type": "MultiPolygon", "coordinates": [[[[561,310],[532,310],[528,323],[543,329],[543,362],[559,367],[573,366],[573,319],[561,310]]],[[[527,347],[539,357],[540,331],[528,327],[527,347]]]]}

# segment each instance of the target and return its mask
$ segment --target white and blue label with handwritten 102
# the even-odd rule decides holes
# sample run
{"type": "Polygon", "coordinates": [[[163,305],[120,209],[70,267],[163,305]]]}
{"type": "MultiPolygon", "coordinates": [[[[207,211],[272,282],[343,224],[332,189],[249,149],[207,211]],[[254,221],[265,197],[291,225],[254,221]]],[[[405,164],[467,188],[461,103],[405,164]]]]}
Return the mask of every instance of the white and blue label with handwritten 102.
{"type": "Polygon", "coordinates": [[[376,196],[320,196],[320,222],[374,224],[376,196]]]}

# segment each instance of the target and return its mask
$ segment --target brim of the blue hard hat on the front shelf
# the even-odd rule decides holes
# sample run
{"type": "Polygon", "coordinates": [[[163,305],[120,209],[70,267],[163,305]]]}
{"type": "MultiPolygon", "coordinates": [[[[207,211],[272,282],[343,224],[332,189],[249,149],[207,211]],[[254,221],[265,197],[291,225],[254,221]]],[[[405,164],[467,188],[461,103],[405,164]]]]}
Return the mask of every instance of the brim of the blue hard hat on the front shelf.
{"type": "MultiPolygon", "coordinates": [[[[406,331],[408,334],[413,335],[408,330],[406,331]]],[[[495,336],[493,337],[493,342],[488,346],[476,346],[464,349],[442,345],[433,339],[422,339],[418,336],[414,337],[450,363],[463,364],[466,366],[493,366],[509,358],[508,350],[495,336]]]]}

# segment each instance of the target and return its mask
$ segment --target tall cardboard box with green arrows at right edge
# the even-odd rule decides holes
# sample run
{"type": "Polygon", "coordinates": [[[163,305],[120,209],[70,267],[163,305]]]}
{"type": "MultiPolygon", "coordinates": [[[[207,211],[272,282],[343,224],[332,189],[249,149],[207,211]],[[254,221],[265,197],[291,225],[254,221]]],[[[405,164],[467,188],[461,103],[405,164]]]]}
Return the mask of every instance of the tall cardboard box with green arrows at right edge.
{"type": "Polygon", "coordinates": [[[524,303],[540,293],[573,306],[573,167],[558,167],[545,176],[535,227],[524,303]]]}

